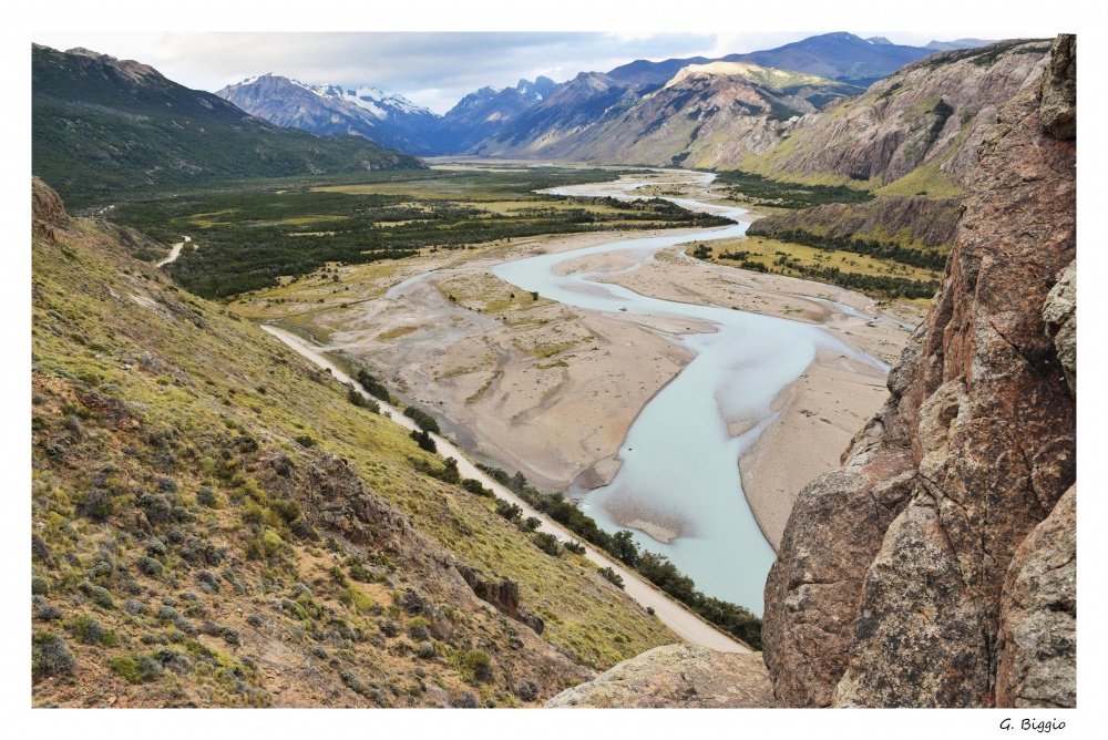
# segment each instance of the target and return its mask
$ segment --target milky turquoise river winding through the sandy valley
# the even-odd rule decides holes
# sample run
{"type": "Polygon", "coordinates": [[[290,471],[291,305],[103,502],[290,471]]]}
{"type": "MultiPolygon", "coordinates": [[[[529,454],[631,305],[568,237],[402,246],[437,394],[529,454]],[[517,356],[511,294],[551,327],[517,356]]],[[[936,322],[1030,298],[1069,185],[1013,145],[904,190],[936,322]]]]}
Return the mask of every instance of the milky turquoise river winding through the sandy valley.
{"type": "MultiPolygon", "coordinates": [[[[689,183],[700,185],[714,177],[693,172],[687,176],[689,183]]],[[[628,199],[648,197],[636,191],[652,184],[657,183],[624,178],[548,192],[628,199]]],[[[742,493],[739,458],[777,418],[778,412],[771,408],[773,400],[808,369],[820,350],[885,368],[814,325],[650,298],[601,281],[614,275],[611,270],[572,271],[572,266],[566,266],[570,270],[556,269],[582,257],[620,253],[633,259],[623,271],[635,270],[654,260],[660,249],[733,238],[743,235],[749,226],[742,220],[746,212],[741,208],[668,199],[691,210],[731,218],[736,224],[696,234],[620,238],[502,263],[492,267],[492,273],[523,290],[582,309],[689,319],[689,332],[667,337],[693,350],[696,357],[639,412],[619,448],[620,467],[612,483],[592,491],[571,486],[567,495],[578,499],[583,511],[602,528],[632,528],[643,549],[668,557],[696,582],[699,590],[760,615],[762,587],[774,553],[742,493]],[[705,332],[705,326],[715,330],[705,332]],[[736,429],[743,431],[732,435],[736,429]],[[648,524],[643,530],[628,527],[636,520],[648,524]],[[658,538],[644,531],[653,530],[658,535],[659,528],[671,536],[658,538]]],[[[403,295],[428,275],[394,286],[386,299],[403,295]]]]}

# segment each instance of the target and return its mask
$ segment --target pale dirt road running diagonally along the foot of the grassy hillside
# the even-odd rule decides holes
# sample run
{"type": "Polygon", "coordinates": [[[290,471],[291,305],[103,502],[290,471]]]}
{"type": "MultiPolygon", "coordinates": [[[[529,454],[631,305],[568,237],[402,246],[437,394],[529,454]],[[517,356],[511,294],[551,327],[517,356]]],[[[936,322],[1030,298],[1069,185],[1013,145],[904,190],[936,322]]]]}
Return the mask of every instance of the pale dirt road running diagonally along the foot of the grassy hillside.
{"type": "MultiPolygon", "coordinates": [[[[179,245],[178,245],[179,246],[179,245]]],[[[311,360],[320,368],[330,371],[331,376],[336,378],[341,383],[347,383],[351,386],[355,390],[361,393],[365,398],[369,399],[370,395],[366,393],[361,387],[351,380],[349,376],[337,368],[332,362],[330,362],[326,357],[322,356],[315,347],[310,343],[297,337],[296,335],[286,331],[284,329],[268,326],[258,325],[264,331],[273,335],[297,353],[311,360]]],[[[378,400],[378,399],[372,399],[378,400]]],[[[380,402],[380,401],[379,401],[380,402]]],[[[391,420],[408,429],[410,431],[416,431],[417,425],[408,417],[404,417],[400,410],[389,405],[388,403],[380,402],[381,409],[389,411],[391,414],[391,420]]],[[[492,491],[500,497],[507,502],[511,502],[523,510],[525,516],[537,517],[542,524],[538,527],[540,532],[546,532],[553,534],[562,539],[578,539],[578,537],[567,530],[562,528],[558,524],[551,521],[545,514],[535,511],[527,502],[523,501],[516,496],[512,491],[504,487],[496,481],[492,480],[489,475],[479,470],[469,459],[454,446],[451,442],[443,439],[438,434],[432,434],[435,444],[439,449],[439,454],[443,458],[452,456],[458,460],[458,470],[463,477],[472,477],[481,482],[481,485],[492,489],[492,491]]],[[[653,584],[644,579],[637,573],[629,571],[626,566],[614,561],[603,553],[597,552],[593,547],[585,546],[585,557],[595,563],[601,567],[609,567],[619,574],[619,577],[624,580],[624,592],[634,598],[636,602],[642,604],[644,607],[653,607],[655,616],[657,616],[663,624],[669,627],[674,633],[676,633],[681,639],[685,639],[695,645],[701,645],[704,647],[712,648],[715,650],[720,650],[724,652],[751,652],[752,650],[728,636],[726,633],[717,629],[715,626],[705,621],[697,615],[693,614],[686,609],[683,605],[669,598],[666,594],[655,587],[653,584]]]]}

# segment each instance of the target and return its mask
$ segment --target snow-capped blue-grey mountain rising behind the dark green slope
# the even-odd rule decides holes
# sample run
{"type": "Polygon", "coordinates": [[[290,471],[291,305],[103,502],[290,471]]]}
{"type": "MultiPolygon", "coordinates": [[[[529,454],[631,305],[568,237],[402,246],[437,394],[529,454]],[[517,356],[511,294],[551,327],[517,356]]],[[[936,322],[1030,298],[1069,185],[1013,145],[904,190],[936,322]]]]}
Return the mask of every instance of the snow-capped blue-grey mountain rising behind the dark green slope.
{"type": "Polygon", "coordinates": [[[439,120],[428,109],[376,88],[310,85],[276,74],[249,78],[216,94],[279,126],[363,136],[409,154],[430,152],[424,134],[439,120]]]}

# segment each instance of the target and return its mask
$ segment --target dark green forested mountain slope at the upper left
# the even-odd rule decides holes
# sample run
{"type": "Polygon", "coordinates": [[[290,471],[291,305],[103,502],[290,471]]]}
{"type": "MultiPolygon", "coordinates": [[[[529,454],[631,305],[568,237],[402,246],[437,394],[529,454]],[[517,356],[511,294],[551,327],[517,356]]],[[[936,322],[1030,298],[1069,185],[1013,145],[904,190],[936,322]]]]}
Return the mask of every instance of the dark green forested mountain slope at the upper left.
{"type": "Polygon", "coordinates": [[[32,171],[72,204],[115,188],[427,166],[365,138],[278,127],[138,62],[31,53],[32,171]]]}

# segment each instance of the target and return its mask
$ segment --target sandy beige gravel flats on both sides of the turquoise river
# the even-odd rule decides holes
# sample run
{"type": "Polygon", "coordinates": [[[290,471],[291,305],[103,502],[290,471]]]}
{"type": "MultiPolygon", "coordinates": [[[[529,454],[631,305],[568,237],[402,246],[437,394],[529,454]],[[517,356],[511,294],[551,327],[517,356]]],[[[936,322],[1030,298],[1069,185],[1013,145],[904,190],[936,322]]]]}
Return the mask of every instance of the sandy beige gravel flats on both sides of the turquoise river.
{"type": "MultiPolygon", "coordinates": [[[[564,490],[574,482],[593,489],[618,470],[616,451],[638,412],[693,359],[676,339],[711,328],[536,300],[489,269],[618,236],[535,237],[476,253],[440,251],[383,273],[380,266],[338,267],[339,282],[349,288],[347,307],[294,316],[284,326],[383,374],[406,401],[445,418],[447,434],[478,459],[519,470],[543,489],[564,490]],[[433,276],[394,287],[432,268],[439,268],[433,276]]],[[[626,265],[618,256],[583,258],[568,267],[611,271],[609,281],[652,297],[819,323],[885,363],[895,361],[909,327],[923,315],[912,305],[878,306],[833,286],[680,253],[659,253],[630,273],[619,273],[626,265]]],[[[332,279],[321,281],[320,290],[331,290],[332,279]]],[[[310,279],[297,285],[298,295],[311,289],[310,279]]],[[[263,295],[235,309],[260,318],[285,314],[287,306],[263,295]]],[[[781,393],[774,407],[781,413],[740,461],[747,499],[774,547],[796,493],[838,465],[850,439],[884,399],[882,371],[827,352],[781,393]]],[[[741,425],[732,429],[741,431],[741,425]]],[[[648,518],[639,512],[619,514],[623,525],[659,541],[679,535],[669,523],[648,518]]]]}

